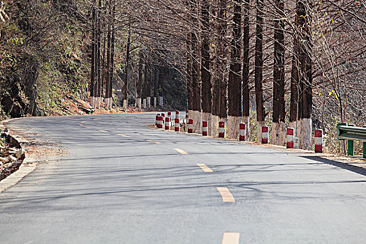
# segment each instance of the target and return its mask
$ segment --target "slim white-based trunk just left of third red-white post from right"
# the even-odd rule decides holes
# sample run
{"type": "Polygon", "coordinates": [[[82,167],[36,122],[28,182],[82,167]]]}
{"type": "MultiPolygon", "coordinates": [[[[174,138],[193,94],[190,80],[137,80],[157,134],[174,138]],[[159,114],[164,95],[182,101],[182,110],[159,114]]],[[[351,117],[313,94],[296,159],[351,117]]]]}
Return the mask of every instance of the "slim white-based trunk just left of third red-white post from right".
{"type": "Polygon", "coordinates": [[[262,139],[262,126],[264,125],[263,107],[263,0],[256,0],[256,112],[257,112],[257,138],[260,143],[262,139]]]}

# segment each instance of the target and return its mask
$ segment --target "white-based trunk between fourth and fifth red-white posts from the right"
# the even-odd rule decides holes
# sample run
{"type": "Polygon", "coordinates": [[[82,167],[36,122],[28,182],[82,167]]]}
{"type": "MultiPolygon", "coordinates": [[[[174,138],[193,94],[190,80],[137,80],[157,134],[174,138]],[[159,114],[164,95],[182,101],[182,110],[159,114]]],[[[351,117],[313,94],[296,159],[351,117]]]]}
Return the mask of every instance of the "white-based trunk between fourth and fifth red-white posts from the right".
{"type": "Polygon", "coordinates": [[[228,79],[228,137],[237,139],[239,124],[242,121],[242,79],[240,61],[240,36],[241,31],[240,1],[234,1],[233,40],[231,41],[231,61],[228,79]]]}

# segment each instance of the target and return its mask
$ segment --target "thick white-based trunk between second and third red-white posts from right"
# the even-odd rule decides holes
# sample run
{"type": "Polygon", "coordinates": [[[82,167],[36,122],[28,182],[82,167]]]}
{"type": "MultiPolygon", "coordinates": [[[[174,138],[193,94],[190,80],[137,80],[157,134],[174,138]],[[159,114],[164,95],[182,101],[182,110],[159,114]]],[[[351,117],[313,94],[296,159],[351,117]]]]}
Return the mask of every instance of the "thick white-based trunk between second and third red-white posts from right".
{"type": "Polygon", "coordinates": [[[284,1],[275,0],[277,15],[274,17],[274,66],[273,66],[273,115],[272,144],[284,145],[285,135],[285,48],[284,1]]]}

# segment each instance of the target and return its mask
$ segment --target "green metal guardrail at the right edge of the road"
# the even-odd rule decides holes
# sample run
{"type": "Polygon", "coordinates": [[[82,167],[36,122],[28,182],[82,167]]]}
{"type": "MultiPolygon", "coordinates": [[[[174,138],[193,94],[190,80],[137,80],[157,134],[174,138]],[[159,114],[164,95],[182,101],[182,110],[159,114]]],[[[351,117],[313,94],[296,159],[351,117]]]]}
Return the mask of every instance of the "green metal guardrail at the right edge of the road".
{"type": "Polygon", "coordinates": [[[347,123],[337,125],[337,139],[348,140],[348,155],[355,155],[355,140],[363,142],[363,158],[366,158],[366,126],[356,127],[347,123]]]}

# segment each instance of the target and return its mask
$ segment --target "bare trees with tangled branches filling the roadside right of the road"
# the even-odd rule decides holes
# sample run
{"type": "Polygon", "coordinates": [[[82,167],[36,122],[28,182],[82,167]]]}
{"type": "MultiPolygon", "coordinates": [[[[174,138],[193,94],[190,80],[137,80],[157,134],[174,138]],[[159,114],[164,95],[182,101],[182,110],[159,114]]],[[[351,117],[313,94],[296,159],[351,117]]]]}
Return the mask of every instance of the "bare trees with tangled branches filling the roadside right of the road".
{"type": "MultiPolygon", "coordinates": [[[[247,137],[260,142],[261,127],[267,124],[272,144],[284,145],[291,126],[300,147],[310,149],[315,128],[337,144],[337,122],[366,122],[365,3],[146,3],[161,6],[162,19],[170,17],[156,31],[177,36],[173,47],[186,46],[180,70],[186,71],[196,132],[208,121],[209,134],[217,135],[218,122],[226,121],[228,137],[237,138],[244,122],[250,128],[247,137]]],[[[342,145],[332,148],[340,151],[342,145]]]]}

